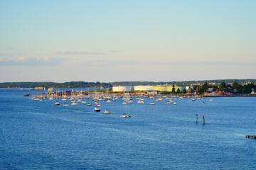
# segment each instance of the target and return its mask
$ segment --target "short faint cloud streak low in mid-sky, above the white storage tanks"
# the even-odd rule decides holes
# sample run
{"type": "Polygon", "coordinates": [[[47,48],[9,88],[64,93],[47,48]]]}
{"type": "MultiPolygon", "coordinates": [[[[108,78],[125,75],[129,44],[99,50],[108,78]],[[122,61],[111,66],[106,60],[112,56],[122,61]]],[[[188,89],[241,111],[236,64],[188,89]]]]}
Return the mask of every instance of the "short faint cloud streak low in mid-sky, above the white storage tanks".
{"type": "Polygon", "coordinates": [[[138,62],[134,61],[116,61],[116,60],[87,60],[85,61],[85,66],[94,67],[105,67],[114,65],[136,65],[138,62]]]}

